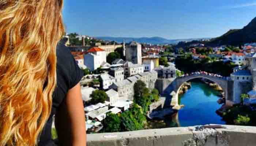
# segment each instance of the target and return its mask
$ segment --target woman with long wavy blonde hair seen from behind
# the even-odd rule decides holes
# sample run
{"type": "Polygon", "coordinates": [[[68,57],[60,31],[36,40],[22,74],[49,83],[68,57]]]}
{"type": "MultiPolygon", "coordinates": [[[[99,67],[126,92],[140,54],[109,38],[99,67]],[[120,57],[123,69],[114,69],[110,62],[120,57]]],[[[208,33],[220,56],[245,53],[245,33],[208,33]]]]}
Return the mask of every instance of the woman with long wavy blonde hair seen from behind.
{"type": "Polygon", "coordinates": [[[0,146],[85,146],[82,72],[63,32],[63,0],[0,0],[0,146]],[[56,49],[57,46],[57,49],[56,49]]]}

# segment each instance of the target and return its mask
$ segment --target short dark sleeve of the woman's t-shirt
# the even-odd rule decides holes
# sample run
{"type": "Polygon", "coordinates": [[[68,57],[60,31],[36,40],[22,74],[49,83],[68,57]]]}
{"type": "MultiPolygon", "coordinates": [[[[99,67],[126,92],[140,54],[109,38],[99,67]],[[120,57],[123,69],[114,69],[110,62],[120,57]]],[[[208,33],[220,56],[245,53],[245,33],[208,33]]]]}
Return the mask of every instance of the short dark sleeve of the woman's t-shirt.
{"type": "Polygon", "coordinates": [[[82,77],[84,76],[84,72],[79,68],[78,64],[75,61],[75,58],[72,56],[71,65],[70,65],[70,85],[69,89],[73,88],[77,85],[82,77]]]}

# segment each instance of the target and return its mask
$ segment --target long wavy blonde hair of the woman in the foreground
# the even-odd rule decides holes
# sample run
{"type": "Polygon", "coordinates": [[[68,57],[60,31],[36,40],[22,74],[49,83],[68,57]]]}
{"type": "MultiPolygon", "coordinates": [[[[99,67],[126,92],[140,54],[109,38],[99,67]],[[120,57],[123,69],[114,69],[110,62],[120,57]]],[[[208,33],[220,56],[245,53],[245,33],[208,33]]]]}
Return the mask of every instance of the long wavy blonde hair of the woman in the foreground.
{"type": "Polygon", "coordinates": [[[63,0],[0,0],[0,145],[33,146],[49,118],[63,0]]]}

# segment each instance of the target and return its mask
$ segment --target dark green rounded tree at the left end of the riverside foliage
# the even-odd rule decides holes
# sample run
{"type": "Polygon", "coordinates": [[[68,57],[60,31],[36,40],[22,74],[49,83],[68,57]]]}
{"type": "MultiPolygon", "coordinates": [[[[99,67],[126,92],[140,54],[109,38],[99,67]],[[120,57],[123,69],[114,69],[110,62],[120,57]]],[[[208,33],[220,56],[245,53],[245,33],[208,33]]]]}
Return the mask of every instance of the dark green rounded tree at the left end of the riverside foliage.
{"type": "Polygon", "coordinates": [[[103,120],[104,132],[120,132],[121,120],[117,114],[108,113],[103,120]]]}

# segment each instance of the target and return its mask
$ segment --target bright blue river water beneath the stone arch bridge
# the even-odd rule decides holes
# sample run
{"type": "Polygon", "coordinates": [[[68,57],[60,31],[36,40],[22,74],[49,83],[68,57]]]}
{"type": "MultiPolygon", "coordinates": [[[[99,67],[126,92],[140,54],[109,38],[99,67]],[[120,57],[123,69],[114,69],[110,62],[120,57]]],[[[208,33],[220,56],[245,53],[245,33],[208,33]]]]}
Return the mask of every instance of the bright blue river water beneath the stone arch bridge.
{"type": "Polygon", "coordinates": [[[191,89],[179,96],[179,104],[185,105],[176,115],[166,116],[163,121],[152,122],[152,128],[185,127],[204,124],[225,124],[216,114],[218,91],[202,82],[191,82],[191,89]]]}

